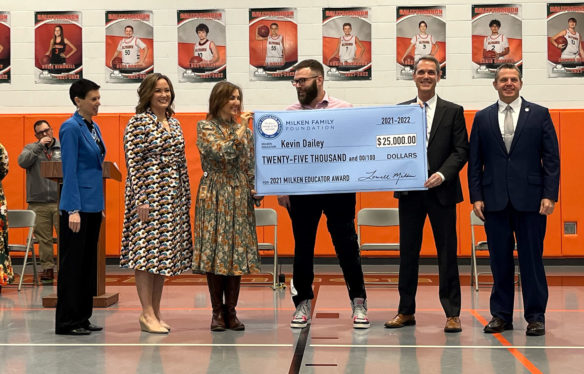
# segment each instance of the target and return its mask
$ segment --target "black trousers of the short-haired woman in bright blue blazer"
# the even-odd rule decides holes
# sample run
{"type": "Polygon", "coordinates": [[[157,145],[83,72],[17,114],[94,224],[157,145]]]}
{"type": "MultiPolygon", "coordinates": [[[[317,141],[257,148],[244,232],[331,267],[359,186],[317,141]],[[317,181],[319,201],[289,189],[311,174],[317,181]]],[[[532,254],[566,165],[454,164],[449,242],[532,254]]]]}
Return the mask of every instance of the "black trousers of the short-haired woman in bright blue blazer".
{"type": "Polygon", "coordinates": [[[101,212],[79,213],[81,229],[69,228],[69,214],[59,222],[59,277],[55,330],[66,332],[87,326],[97,293],[97,242],[101,212]]]}

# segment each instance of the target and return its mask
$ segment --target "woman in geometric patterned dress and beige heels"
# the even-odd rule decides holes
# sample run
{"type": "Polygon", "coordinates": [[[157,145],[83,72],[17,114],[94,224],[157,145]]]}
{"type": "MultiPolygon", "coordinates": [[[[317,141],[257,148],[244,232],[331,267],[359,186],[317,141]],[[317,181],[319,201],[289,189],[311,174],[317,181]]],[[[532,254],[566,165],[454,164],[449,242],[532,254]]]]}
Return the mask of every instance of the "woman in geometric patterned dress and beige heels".
{"type": "Polygon", "coordinates": [[[160,318],[164,277],[191,266],[191,197],[185,145],[170,79],[149,74],[124,133],[126,209],[120,266],[134,269],[142,331],[168,333],[160,318]]]}

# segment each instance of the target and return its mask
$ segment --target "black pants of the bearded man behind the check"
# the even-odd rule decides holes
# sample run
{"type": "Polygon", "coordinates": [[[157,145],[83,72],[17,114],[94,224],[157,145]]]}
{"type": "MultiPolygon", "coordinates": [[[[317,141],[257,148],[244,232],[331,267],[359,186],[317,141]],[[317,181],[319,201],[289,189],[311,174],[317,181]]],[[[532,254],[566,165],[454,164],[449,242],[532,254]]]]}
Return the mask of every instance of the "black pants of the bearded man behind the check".
{"type": "Polygon", "coordinates": [[[354,193],[290,196],[290,218],[294,232],[294,304],[314,298],[314,244],[320,216],[324,212],[349,297],[366,298],[357,233],[354,193]]]}

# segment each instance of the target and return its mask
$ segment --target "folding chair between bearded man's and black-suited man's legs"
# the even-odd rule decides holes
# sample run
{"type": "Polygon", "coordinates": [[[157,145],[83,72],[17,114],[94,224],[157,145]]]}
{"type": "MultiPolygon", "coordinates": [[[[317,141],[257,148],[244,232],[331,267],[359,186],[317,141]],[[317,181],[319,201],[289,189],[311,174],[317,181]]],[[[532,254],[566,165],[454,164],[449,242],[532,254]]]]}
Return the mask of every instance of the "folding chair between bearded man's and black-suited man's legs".
{"type": "MultiPolygon", "coordinates": [[[[359,250],[364,251],[399,251],[399,243],[363,243],[361,226],[399,227],[397,208],[363,208],[357,213],[357,241],[359,250]]],[[[385,272],[383,274],[399,274],[385,272]]],[[[366,282],[367,284],[395,284],[395,282],[366,282]]]]}

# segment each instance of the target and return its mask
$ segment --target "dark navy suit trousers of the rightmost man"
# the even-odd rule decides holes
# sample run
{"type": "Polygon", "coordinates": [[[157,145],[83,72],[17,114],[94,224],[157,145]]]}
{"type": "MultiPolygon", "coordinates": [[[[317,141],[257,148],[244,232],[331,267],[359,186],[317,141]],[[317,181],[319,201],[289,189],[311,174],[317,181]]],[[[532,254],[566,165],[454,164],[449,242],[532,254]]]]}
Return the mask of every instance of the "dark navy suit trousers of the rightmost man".
{"type": "Polygon", "coordinates": [[[513,322],[515,233],[525,320],[545,322],[548,300],[543,266],[545,229],[546,216],[538,212],[518,212],[511,204],[502,211],[485,212],[485,231],[494,281],[491,291],[493,317],[513,322]]]}

